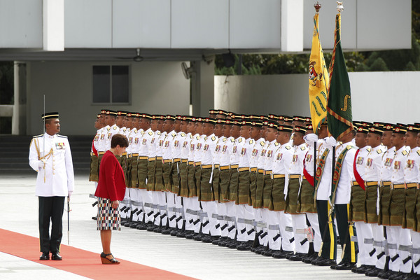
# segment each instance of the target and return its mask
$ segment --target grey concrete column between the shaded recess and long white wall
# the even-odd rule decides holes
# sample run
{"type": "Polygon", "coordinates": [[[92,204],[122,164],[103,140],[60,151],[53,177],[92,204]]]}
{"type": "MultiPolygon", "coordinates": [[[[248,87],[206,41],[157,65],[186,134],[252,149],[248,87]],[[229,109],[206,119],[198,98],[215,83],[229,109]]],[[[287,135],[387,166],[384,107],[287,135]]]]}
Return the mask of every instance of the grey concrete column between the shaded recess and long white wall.
{"type": "Polygon", "coordinates": [[[191,66],[193,116],[209,116],[209,109],[214,109],[214,56],[195,60],[191,66]]]}

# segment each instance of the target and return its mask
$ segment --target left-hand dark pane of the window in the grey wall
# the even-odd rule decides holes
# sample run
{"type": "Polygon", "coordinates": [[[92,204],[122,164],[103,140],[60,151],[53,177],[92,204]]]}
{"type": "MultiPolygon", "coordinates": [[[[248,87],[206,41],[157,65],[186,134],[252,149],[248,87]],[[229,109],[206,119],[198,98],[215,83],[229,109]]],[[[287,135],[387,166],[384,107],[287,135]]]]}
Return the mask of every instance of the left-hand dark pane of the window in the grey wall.
{"type": "Polygon", "coordinates": [[[93,103],[110,102],[110,67],[93,66],[93,103]]]}

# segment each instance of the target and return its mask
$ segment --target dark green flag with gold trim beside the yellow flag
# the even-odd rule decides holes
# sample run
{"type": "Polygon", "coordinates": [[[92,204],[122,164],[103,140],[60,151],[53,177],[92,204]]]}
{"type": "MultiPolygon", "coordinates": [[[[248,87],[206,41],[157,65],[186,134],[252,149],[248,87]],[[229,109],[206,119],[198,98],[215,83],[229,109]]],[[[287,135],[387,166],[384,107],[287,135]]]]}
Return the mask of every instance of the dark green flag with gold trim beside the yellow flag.
{"type": "Polygon", "coordinates": [[[337,140],[353,129],[350,81],[341,47],[341,14],[335,17],[335,44],[330,63],[328,90],[328,131],[337,140]]]}

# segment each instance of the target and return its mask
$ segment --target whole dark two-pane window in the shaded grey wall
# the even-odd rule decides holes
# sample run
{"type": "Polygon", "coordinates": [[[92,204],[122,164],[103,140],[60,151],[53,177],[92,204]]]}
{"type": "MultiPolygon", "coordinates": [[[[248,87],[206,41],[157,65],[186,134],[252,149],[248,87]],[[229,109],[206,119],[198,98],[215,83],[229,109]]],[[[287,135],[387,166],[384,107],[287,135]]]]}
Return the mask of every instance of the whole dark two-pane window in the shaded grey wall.
{"type": "Polygon", "coordinates": [[[129,103],[129,69],[127,65],[94,65],[93,103],[129,103]]]}

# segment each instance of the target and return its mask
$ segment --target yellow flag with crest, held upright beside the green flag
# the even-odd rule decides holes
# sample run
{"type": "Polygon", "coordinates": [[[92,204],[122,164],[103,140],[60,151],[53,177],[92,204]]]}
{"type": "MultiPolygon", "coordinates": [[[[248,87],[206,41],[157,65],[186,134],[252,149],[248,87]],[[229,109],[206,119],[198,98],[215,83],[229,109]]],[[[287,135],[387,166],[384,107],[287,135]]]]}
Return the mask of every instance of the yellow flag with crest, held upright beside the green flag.
{"type": "Polygon", "coordinates": [[[314,15],[314,36],[309,57],[309,106],[314,132],[327,118],[328,84],[330,77],[319,41],[318,13],[314,15]]]}

